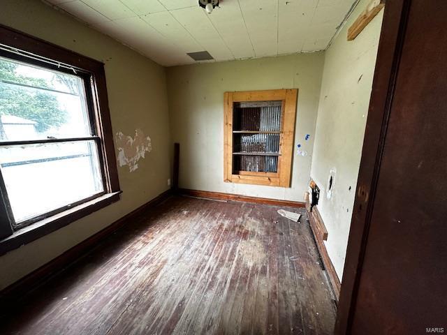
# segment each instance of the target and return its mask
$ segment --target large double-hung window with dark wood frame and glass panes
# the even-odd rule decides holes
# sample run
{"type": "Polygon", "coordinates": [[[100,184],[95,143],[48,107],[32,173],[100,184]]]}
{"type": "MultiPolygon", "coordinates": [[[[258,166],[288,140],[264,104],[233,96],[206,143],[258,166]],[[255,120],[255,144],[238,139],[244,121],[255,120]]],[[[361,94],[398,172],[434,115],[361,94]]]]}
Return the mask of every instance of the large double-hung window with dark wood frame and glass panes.
{"type": "Polygon", "coordinates": [[[103,64],[0,34],[0,237],[50,232],[119,199],[103,64]]]}

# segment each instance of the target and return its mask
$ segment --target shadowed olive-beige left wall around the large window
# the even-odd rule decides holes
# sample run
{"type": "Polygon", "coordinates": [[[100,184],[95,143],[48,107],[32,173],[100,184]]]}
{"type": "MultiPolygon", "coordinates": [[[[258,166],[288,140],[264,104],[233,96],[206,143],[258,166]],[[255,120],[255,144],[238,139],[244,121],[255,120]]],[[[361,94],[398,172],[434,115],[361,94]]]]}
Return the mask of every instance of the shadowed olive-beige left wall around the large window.
{"type": "Polygon", "coordinates": [[[119,168],[122,200],[1,256],[1,290],[166,191],[172,147],[163,67],[41,1],[2,0],[0,23],[103,61],[114,133],[141,128],[152,139],[138,170],[119,168]]]}

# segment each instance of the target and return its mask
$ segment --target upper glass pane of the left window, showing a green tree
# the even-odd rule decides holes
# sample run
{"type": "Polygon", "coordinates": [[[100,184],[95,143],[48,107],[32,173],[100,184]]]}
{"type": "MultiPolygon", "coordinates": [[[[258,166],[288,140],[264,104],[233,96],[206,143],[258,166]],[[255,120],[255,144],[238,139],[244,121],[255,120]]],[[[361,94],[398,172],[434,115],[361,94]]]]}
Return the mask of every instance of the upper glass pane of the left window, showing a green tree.
{"type": "Polygon", "coordinates": [[[0,141],[89,135],[81,77],[0,57],[0,141]]]}

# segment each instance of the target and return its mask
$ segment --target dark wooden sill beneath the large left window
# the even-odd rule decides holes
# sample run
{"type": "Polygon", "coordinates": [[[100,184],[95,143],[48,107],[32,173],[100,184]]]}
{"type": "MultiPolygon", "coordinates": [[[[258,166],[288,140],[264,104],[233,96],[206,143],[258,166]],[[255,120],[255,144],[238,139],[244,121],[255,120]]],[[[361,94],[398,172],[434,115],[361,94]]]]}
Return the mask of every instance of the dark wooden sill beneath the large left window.
{"type": "Polygon", "coordinates": [[[107,207],[113,202],[117,202],[121,193],[121,191],[118,191],[101,195],[101,197],[78,204],[76,207],[17,230],[12,235],[0,240],[0,255],[50,234],[50,232],[69,225],[94,211],[98,211],[98,209],[107,207]]]}

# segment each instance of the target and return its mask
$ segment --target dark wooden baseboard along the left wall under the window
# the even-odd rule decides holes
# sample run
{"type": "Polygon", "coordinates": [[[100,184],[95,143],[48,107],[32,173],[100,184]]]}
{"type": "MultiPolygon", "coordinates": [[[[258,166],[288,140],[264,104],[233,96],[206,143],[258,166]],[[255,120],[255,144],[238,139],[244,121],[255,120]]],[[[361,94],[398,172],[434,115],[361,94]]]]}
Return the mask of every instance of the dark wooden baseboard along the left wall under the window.
{"type": "Polygon", "coordinates": [[[171,190],[161,193],[160,195],[156,196],[156,198],[131,211],[129,214],[126,214],[122,218],[119,218],[119,220],[115,221],[111,225],[108,225],[103,230],[100,230],[96,234],[91,235],[91,237],[80,242],[80,244],[73,246],[73,248],[68,249],[68,251],[65,251],[61,255],[57,256],[57,258],[50,260],[50,262],[47,262],[45,265],[39,267],[38,269],[32,271],[30,274],[27,274],[15,283],[1,290],[0,311],[2,309],[1,306],[7,306],[7,308],[9,308],[9,303],[15,303],[17,299],[23,297],[26,292],[38,288],[38,286],[45,283],[48,278],[50,278],[54,274],[59,273],[60,271],[68,267],[68,265],[71,265],[73,262],[75,262],[75,260],[78,260],[78,258],[82,257],[82,255],[88,253],[88,251],[98,245],[99,241],[105,239],[105,237],[108,237],[108,235],[112,234],[119,228],[122,228],[129,220],[131,220],[135,216],[138,216],[138,214],[149,209],[150,207],[154,207],[156,206],[156,204],[163,202],[171,195],[171,190]]]}

